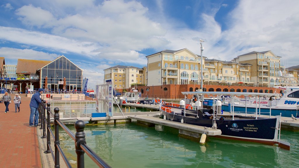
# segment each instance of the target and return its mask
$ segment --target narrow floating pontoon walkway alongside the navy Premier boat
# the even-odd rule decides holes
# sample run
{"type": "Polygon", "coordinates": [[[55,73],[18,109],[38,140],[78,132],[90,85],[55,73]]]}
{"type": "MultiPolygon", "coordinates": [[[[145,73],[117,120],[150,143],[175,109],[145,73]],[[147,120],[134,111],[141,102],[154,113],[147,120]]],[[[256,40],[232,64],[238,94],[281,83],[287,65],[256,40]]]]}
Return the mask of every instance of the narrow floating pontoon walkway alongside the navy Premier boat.
{"type": "Polygon", "coordinates": [[[131,115],[131,116],[127,116],[127,118],[144,121],[144,122],[149,122],[149,123],[154,123],[154,124],[160,124],[160,125],[164,125],[164,126],[177,128],[179,130],[185,130],[185,131],[195,132],[195,133],[199,133],[199,134],[205,133],[206,135],[210,135],[210,136],[221,135],[220,129],[212,129],[212,128],[207,128],[207,127],[203,127],[203,126],[179,123],[176,121],[164,120],[164,119],[161,119],[158,117],[151,117],[148,115],[138,115],[138,116],[131,115]]]}

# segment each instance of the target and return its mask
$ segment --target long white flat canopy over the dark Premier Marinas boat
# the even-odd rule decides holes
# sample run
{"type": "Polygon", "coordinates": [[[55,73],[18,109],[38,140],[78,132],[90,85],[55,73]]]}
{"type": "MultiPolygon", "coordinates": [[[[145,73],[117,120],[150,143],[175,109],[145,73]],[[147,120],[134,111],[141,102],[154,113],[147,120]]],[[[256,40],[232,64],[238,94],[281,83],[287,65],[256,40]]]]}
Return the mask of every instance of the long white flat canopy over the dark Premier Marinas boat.
{"type": "Polygon", "coordinates": [[[255,93],[255,92],[225,92],[225,91],[184,91],[182,94],[191,95],[213,95],[213,96],[259,96],[259,97],[279,97],[279,93],[255,93]]]}

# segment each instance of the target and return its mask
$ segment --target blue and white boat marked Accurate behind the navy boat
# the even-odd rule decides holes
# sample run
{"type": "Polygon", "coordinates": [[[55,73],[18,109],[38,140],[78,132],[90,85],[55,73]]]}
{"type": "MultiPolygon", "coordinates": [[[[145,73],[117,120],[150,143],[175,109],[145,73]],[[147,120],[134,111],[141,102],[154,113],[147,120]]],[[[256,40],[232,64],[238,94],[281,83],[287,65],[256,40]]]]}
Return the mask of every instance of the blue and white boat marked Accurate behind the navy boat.
{"type": "MultiPolygon", "coordinates": [[[[253,103],[230,103],[235,102],[224,102],[222,103],[222,110],[225,112],[230,112],[234,110],[234,112],[256,112],[262,115],[280,115],[282,117],[298,117],[298,109],[299,109],[299,86],[274,86],[274,88],[282,89],[283,94],[280,99],[264,99],[263,97],[257,97],[253,103]],[[234,105],[234,109],[232,109],[232,105],[234,105]],[[270,113],[271,110],[271,113],[270,113]]],[[[250,93],[249,93],[250,94],[250,93]]],[[[247,99],[242,99],[243,102],[250,101],[249,97],[247,99]]]]}

